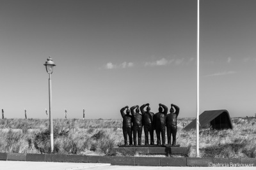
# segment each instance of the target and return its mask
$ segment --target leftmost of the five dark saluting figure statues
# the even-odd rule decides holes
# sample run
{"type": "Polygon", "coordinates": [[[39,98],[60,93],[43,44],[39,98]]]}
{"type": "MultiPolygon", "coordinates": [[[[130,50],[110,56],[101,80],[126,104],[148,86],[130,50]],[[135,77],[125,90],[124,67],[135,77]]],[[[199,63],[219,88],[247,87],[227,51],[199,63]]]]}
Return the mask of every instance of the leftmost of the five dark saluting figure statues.
{"type": "Polygon", "coordinates": [[[123,134],[124,134],[124,145],[127,146],[127,135],[129,138],[129,145],[132,145],[132,116],[128,106],[125,106],[120,110],[123,118],[123,134]],[[124,110],[126,109],[126,114],[124,110]]]}

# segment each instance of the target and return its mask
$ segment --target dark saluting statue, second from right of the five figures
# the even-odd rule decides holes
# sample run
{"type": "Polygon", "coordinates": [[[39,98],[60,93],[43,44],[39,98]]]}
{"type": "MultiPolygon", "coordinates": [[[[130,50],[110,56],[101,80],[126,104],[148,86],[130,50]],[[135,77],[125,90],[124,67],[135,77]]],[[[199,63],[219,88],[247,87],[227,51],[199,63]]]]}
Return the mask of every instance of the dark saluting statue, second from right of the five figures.
{"type": "Polygon", "coordinates": [[[165,122],[168,108],[164,104],[159,104],[159,112],[154,115],[154,127],[156,129],[157,145],[161,145],[160,133],[162,136],[162,144],[165,146],[165,122]]]}

